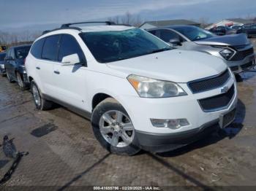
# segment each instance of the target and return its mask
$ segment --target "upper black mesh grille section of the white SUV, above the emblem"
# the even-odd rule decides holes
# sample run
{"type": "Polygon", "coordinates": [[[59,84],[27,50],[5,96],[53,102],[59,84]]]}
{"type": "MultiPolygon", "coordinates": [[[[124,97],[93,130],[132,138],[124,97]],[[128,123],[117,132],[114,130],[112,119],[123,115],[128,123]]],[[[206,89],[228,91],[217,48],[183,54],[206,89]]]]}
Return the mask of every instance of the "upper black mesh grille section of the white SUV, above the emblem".
{"type": "Polygon", "coordinates": [[[192,90],[192,93],[200,93],[206,90],[212,90],[217,87],[222,87],[222,85],[224,85],[229,78],[230,73],[228,72],[228,70],[226,70],[222,74],[214,77],[197,79],[195,81],[188,82],[188,86],[190,90],[192,90]]]}

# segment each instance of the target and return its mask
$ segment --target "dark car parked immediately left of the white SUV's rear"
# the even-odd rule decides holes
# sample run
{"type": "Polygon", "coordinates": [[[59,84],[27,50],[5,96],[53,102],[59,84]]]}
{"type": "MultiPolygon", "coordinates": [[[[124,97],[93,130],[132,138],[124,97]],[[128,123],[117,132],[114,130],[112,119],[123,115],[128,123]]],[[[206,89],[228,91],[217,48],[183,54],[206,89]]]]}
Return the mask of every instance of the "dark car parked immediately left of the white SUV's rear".
{"type": "Polygon", "coordinates": [[[18,82],[21,90],[26,90],[30,86],[24,66],[30,47],[31,45],[10,47],[4,61],[7,79],[9,82],[18,82]]]}

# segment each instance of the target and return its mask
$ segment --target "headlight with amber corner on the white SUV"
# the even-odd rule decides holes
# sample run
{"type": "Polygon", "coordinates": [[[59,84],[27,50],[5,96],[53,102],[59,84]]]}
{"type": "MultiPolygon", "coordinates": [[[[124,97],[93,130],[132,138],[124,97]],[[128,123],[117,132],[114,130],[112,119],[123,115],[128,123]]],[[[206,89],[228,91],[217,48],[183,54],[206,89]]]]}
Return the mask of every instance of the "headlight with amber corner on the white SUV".
{"type": "Polygon", "coordinates": [[[137,75],[127,77],[131,85],[142,98],[170,98],[187,93],[176,83],[167,82],[137,75]]]}

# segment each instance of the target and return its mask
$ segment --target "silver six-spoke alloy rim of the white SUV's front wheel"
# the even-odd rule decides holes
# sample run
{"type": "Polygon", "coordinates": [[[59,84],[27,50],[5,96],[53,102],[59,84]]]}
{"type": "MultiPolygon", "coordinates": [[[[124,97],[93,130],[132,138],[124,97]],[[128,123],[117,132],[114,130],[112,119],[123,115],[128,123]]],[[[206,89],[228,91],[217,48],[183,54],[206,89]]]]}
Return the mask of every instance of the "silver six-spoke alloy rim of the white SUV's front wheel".
{"type": "Polygon", "coordinates": [[[114,147],[127,147],[135,136],[132,121],[123,112],[111,110],[102,114],[99,131],[103,138],[114,147]]]}

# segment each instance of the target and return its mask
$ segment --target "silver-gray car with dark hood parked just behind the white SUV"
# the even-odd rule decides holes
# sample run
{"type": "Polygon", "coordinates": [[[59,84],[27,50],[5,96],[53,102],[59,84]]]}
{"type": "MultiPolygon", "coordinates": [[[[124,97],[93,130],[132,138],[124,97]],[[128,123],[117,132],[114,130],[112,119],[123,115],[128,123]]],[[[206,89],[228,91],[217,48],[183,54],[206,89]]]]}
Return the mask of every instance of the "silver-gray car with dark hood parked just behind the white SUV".
{"type": "Polygon", "coordinates": [[[253,46],[244,34],[216,36],[196,26],[166,26],[148,31],[178,49],[222,58],[235,74],[255,66],[253,46]]]}

